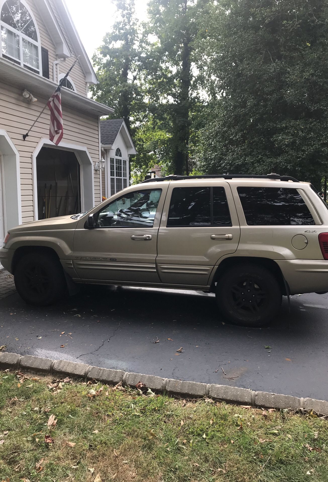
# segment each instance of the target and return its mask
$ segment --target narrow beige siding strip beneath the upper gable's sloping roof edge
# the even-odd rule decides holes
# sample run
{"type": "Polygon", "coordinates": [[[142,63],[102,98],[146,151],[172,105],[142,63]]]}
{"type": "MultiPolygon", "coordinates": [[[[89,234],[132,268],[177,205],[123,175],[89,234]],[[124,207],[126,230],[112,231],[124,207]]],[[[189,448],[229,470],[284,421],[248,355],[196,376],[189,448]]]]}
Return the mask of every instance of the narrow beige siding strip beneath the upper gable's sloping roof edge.
{"type": "MultiPolygon", "coordinates": [[[[50,4],[50,6],[53,10],[53,13],[55,15],[55,19],[57,20],[57,23],[60,27],[60,30],[63,34],[63,37],[66,40],[66,43],[68,44],[69,50],[72,53],[71,57],[67,58],[66,61],[63,62],[62,64],[59,64],[59,74],[66,74],[69,67],[71,67],[72,63],[74,62],[74,60],[76,58],[76,54],[75,54],[73,46],[72,46],[72,44],[69,40],[69,36],[67,34],[66,28],[64,27],[63,22],[60,18],[60,15],[57,11],[55,1],[49,0],[49,4],[50,4]]],[[[79,62],[76,63],[76,65],[74,66],[72,71],[69,73],[69,77],[73,80],[76,91],[79,94],[84,95],[84,97],[86,97],[87,91],[86,91],[85,75],[84,75],[84,72],[83,72],[82,67],[80,66],[79,62]]]]}

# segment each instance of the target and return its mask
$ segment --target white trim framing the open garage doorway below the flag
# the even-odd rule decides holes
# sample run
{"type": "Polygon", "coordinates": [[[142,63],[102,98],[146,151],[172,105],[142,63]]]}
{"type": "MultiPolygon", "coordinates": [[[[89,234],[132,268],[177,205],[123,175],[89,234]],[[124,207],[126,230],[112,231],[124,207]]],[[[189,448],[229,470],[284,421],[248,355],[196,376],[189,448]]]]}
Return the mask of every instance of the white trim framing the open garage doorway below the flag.
{"type": "Polygon", "coordinates": [[[33,206],[34,219],[38,220],[38,190],[37,190],[37,156],[42,147],[52,147],[53,149],[68,150],[74,152],[78,162],[80,163],[81,172],[81,209],[86,211],[95,206],[95,184],[94,184],[94,163],[91,159],[87,147],[79,144],[70,144],[68,142],[60,142],[59,146],[55,146],[49,139],[42,138],[32,153],[32,176],[33,176],[33,206]],[[91,183],[90,183],[91,175],[91,183]],[[91,189],[90,189],[91,184],[91,189]]]}

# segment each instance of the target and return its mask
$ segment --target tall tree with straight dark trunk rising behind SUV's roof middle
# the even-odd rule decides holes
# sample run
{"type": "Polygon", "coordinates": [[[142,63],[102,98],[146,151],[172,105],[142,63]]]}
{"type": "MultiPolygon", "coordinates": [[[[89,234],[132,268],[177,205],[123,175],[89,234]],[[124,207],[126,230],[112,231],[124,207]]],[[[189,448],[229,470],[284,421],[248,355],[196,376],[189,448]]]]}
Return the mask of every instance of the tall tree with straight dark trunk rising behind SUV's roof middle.
{"type": "Polygon", "coordinates": [[[203,0],[150,0],[148,4],[143,59],[148,110],[167,133],[161,155],[168,172],[174,174],[189,174],[191,133],[195,113],[201,110],[193,43],[199,35],[202,8],[203,0]]]}

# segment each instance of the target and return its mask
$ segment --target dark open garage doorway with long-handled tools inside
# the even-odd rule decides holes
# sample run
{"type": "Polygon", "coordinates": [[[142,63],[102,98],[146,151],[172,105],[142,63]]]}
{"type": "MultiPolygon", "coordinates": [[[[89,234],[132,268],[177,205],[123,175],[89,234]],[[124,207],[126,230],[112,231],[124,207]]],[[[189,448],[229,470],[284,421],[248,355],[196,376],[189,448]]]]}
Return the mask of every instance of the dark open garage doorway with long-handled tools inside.
{"type": "Polygon", "coordinates": [[[74,152],[42,147],[36,171],[39,219],[81,212],[81,169],[74,152]]]}

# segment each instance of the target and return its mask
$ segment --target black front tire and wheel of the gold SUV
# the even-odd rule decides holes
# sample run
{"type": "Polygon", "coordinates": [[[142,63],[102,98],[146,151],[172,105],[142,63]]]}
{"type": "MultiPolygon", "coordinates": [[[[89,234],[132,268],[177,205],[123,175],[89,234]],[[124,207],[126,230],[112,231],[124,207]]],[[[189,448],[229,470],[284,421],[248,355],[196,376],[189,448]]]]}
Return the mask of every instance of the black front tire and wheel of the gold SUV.
{"type": "Polygon", "coordinates": [[[22,256],[14,270],[18,294],[28,305],[48,306],[66,292],[67,283],[58,260],[44,253],[22,256]]]}

